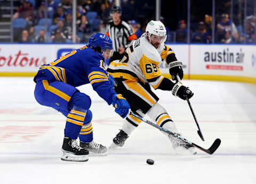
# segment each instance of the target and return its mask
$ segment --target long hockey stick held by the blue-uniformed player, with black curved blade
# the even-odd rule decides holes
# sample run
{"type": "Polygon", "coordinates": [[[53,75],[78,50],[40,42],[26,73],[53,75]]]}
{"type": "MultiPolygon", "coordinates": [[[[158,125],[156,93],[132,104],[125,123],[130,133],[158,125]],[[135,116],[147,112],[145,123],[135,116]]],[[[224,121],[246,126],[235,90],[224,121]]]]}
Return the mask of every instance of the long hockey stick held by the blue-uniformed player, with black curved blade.
{"type": "Polygon", "coordinates": [[[171,131],[169,131],[169,130],[163,128],[163,127],[160,127],[160,126],[158,126],[157,124],[155,124],[155,123],[153,123],[153,122],[151,122],[151,121],[149,121],[149,120],[147,120],[147,119],[141,117],[140,115],[134,114],[134,113],[131,112],[131,111],[130,111],[130,114],[131,114],[132,116],[134,116],[135,118],[138,118],[139,120],[141,120],[141,121],[143,121],[143,122],[149,124],[150,126],[153,126],[153,127],[157,128],[157,129],[163,131],[163,132],[166,132],[166,133],[168,133],[169,135],[171,135],[171,136],[173,136],[173,137],[177,137],[177,138],[180,139],[183,143],[189,144],[190,147],[196,147],[196,148],[201,149],[203,152],[208,153],[208,154],[210,154],[210,155],[213,154],[213,153],[215,152],[215,150],[218,149],[218,147],[220,146],[221,140],[218,138],[218,139],[216,139],[216,140],[214,141],[214,143],[212,144],[212,146],[211,146],[209,149],[204,149],[204,148],[202,148],[201,146],[198,146],[198,145],[196,145],[195,143],[192,143],[192,142],[190,142],[189,140],[187,140],[187,139],[181,137],[181,136],[178,135],[177,133],[173,133],[173,132],[171,132],[171,131]]]}

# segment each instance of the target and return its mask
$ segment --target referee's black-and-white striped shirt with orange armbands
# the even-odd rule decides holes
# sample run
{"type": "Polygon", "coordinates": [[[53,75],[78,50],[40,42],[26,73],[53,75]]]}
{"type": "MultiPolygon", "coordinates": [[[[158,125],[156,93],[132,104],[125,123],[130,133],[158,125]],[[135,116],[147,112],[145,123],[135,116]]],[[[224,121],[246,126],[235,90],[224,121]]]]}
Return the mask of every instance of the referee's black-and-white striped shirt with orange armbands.
{"type": "Polygon", "coordinates": [[[106,35],[113,41],[113,49],[115,52],[118,52],[119,47],[126,48],[131,40],[137,39],[132,27],[122,20],[117,26],[114,25],[113,20],[109,21],[106,35]]]}

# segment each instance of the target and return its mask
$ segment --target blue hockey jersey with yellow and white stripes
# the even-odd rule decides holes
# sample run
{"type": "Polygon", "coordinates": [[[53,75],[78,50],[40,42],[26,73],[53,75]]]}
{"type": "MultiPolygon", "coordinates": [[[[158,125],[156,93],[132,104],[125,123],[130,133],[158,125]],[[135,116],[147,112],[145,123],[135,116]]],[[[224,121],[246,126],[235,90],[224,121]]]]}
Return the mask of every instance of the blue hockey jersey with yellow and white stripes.
{"type": "Polygon", "coordinates": [[[108,104],[111,104],[112,96],[116,94],[108,79],[104,57],[87,46],[40,66],[34,81],[41,76],[49,81],[62,81],[74,87],[91,83],[93,89],[108,104]]]}

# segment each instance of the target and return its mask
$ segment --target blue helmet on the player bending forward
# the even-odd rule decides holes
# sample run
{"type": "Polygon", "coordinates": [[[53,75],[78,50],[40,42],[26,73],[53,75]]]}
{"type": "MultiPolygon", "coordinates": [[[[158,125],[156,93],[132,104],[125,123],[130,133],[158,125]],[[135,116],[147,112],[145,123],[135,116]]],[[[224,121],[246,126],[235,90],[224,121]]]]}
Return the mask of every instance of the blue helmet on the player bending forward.
{"type": "Polygon", "coordinates": [[[112,40],[107,35],[97,33],[91,36],[88,45],[97,51],[100,47],[100,52],[103,52],[105,49],[112,49],[112,40]]]}

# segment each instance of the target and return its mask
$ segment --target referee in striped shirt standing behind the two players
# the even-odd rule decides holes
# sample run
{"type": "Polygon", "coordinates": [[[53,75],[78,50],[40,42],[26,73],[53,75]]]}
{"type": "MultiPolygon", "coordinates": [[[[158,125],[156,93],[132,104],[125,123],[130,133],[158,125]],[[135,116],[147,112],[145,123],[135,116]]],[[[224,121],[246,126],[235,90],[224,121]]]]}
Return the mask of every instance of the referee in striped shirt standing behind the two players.
{"type": "Polygon", "coordinates": [[[112,20],[108,22],[106,31],[106,35],[113,41],[114,49],[113,56],[110,57],[109,63],[114,60],[121,60],[131,40],[137,39],[132,27],[121,20],[121,14],[121,8],[119,6],[113,6],[111,9],[112,20]]]}

